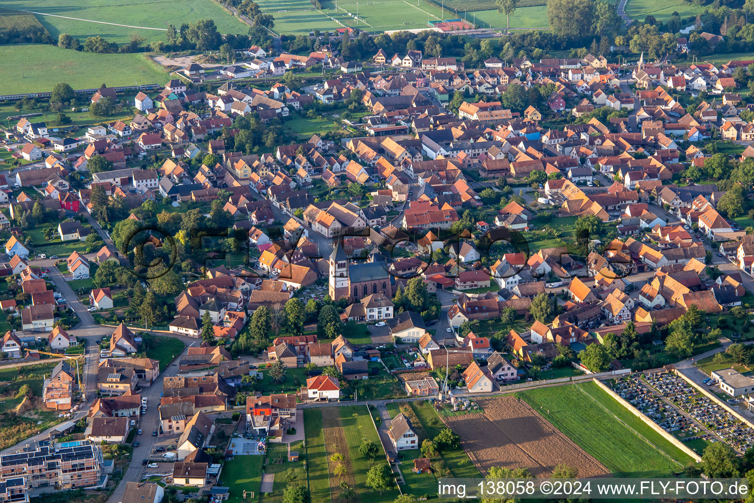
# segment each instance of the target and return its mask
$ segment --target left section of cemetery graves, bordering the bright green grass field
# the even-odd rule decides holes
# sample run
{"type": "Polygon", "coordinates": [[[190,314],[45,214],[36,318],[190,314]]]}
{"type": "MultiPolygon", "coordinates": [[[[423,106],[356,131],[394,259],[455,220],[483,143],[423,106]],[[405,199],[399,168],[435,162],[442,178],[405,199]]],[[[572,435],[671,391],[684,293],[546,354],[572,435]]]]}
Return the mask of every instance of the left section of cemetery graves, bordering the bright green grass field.
{"type": "MultiPolygon", "coordinates": [[[[641,376],[641,375],[640,375],[641,376]]],[[[663,428],[665,431],[667,431],[669,434],[672,434],[674,437],[677,437],[678,440],[681,440],[682,442],[686,442],[688,440],[694,440],[695,437],[679,437],[679,435],[673,434],[673,428],[677,425],[681,424],[685,421],[683,419],[687,420],[688,422],[691,422],[691,431],[694,433],[698,433],[699,431],[703,431],[704,435],[701,438],[706,437],[706,435],[710,435],[715,437],[717,440],[721,440],[715,432],[711,431],[710,428],[707,428],[706,425],[703,425],[697,419],[694,419],[691,417],[690,414],[688,414],[682,407],[679,407],[676,405],[676,403],[673,403],[670,398],[662,394],[657,388],[655,388],[653,385],[651,385],[648,382],[644,382],[643,376],[642,379],[636,379],[636,382],[633,381],[633,379],[620,379],[616,380],[615,385],[611,386],[612,391],[615,391],[615,393],[619,394],[624,400],[626,400],[628,403],[630,403],[634,408],[639,410],[644,416],[646,416],[648,419],[651,419],[653,422],[657,423],[661,428],[663,428]],[[633,390],[637,390],[641,388],[642,391],[645,391],[645,393],[650,393],[652,397],[654,397],[654,400],[648,400],[645,395],[642,397],[642,395],[628,395],[624,396],[628,392],[631,392],[633,390],[630,389],[630,385],[633,384],[636,386],[636,388],[633,388],[633,390]],[[634,397],[633,400],[631,398],[634,397]],[[662,403],[664,403],[664,407],[660,406],[657,407],[658,412],[655,413],[655,417],[653,418],[650,416],[650,414],[653,412],[654,406],[657,406],[656,400],[661,400],[662,403]],[[653,403],[654,402],[654,403],[653,403]],[[640,406],[641,405],[641,406],[640,406]],[[646,405],[646,406],[644,406],[646,405]],[[672,413],[668,414],[667,410],[672,409],[672,413]],[[678,420],[677,416],[682,416],[683,419],[678,420]],[[660,416],[657,418],[657,416],[660,416]],[[663,419],[663,422],[658,422],[658,419],[663,419]],[[672,421],[672,424],[670,426],[667,426],[672,421]]],[[[676,431],[680,428],[676,428],[676,431]]]]}

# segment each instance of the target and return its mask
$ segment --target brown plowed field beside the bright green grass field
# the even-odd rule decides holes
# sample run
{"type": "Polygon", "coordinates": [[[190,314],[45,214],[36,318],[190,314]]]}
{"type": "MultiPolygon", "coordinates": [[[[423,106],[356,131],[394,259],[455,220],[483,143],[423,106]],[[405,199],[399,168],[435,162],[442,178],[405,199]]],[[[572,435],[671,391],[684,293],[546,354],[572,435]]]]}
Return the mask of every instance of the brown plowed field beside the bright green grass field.
{"type": "Polygon", "coordinates": [[[578,477],[608,474],[566,435],[513,395],[477,400],[484,414],[443,418],[461,437],[469,457],[480,471],[492,466],[529,468],[532,475],[549,476],[559,463],[578,469],[578,477]]]}

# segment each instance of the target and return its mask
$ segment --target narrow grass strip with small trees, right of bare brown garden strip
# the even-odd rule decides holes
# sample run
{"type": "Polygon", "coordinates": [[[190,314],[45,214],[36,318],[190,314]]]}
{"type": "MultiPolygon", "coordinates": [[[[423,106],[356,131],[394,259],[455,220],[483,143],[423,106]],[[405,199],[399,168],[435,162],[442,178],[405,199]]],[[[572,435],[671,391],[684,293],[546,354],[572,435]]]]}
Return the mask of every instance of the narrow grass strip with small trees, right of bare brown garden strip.
{"type": "MultiPolygon", "coordinates": [[[[385,451],[382,449],[379,435],[372,424],[372,418],[369,416],[369,410],[363,405],[353,405],[339,407],[340,422],[345,433],[345,441],[348,443],[348,452],[351,457],[351,468],[353,469],[354,478],[356,479],[358,492],[362,500],[366,501],[367,497],[373,497],[372,489],[366,486],[366,472],[373,464],[385,463],[385,451]],[[374,462],[361,455],[359,446],[361,440],[366,438],[372,440],[379,446],[379,454],[374,462]]],[[[380,496],[381,501],[393,501],[398,496],[397,487],[391,484],[391,489],[385,491],[380,496]]]]}

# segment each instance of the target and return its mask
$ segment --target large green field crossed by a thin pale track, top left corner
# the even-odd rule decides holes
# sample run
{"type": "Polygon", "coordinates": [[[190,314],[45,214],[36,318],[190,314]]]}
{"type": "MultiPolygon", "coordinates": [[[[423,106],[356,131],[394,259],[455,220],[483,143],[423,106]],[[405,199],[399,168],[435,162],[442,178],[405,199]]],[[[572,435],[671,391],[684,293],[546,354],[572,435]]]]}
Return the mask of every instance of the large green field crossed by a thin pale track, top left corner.
{"type": "Polygon", "coordinates": [[[107,41],[123,44],[130,41],[133,33],[146,42],[164,40],[162,30],[167,25],[173,24],[178,29],[182,23],[200,19],[214,20],[220,33],[246,33],[249,29],[214,0],[121,0],[116,4],[107,0],[4,0],[2,6],[53,14],[37,14],[52,37],[57,40],[60,33],[68,33],[82,43],[84,38],[100,35],[107,41]],[[76,19],[66,19],[68,17],[76,19]]]}

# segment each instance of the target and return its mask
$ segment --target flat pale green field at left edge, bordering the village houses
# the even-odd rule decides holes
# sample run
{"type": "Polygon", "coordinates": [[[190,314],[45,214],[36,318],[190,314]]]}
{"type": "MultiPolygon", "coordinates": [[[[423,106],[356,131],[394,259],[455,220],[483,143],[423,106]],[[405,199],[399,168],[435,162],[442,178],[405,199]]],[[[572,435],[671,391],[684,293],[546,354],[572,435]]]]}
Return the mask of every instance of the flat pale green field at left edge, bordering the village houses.
{"type": "Polygon", "coordinates": [[[167,81],[167,72],[144,54],[94,54],[39,44],[0,46],[0,75],[0,94],[50,91],[58,82],[90,89],[167,81]]]}

